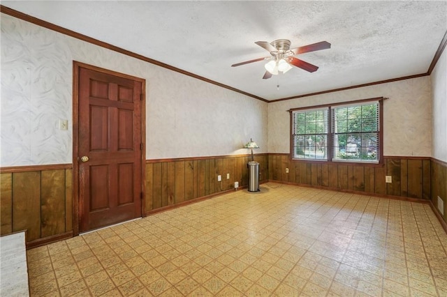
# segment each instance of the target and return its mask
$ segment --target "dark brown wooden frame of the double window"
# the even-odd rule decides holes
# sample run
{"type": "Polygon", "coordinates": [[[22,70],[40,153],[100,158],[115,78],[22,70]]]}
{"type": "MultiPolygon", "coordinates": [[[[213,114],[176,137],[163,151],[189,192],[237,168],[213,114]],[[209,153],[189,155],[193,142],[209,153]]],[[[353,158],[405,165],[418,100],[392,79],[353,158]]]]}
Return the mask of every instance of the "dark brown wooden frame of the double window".
{"type": "Polygon", "coordinates": [[[290,117],[290,131],[289,131],[289,137],[290,137],[290,151],[289,151],[289,157],[291,160],[300,161],[300,162],[323,162],[326,164],[337,164],[337,165],[362,165],[367,167],[381,167],[383,166],[383,100],[386,98],[383,97],[377,97],[377,98],[367,98],[367,99],[360,99],[360,100],[353,100],[353,101],[344,101],[344,102],[336,102],[332,104],[325,104],[325,105],[314,105],[314,106],[307,106],[307,107],[298,107],[289,109],[289,117],[290,117]],[[341,105],[363,105],[366,102],[379,102],[379,162],[365,162],[361,160],[332,160],[333,154],[334,154],[334,146],[332,144],[332,139],[334,133],[332,132],[332,107],[337,107],[341,105]],[[295,158],[295,154],[293,151],[293,112],[297,111],[304,111],[309,110],[312,111],[313,109],[323,109],[328,108],[328,133],[327,133],[327,156],[328,159],[302,159],[302,158],[295,158]]]}

